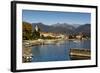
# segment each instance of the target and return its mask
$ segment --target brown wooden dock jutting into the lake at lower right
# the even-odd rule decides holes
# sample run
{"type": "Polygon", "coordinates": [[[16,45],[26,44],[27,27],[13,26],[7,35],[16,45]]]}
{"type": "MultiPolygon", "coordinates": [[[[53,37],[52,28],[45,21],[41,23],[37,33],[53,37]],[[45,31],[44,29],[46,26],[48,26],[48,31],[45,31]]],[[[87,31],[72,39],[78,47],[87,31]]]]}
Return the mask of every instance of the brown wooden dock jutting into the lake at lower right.
{"type": "Polygon", "coordinates": [[[71,60],[87,60],[91,59],[90,49],[70,49],[71,60]]]}

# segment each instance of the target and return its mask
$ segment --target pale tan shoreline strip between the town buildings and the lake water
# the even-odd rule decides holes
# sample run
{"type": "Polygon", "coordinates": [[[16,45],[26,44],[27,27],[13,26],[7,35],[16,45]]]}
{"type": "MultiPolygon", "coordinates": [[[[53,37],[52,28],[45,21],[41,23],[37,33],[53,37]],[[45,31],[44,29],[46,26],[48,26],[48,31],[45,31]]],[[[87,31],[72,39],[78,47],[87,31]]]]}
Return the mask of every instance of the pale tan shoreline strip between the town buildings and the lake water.
{"type": "Polygon", "coordinates": [[[79,42],[79,41],[83,41],[83,40],[90,40],[90,39],[37,39],[37,40],[23,40],[23,46],[36,46],[36,45],[49,45],[49,44],[57,44],[57,43],[62,43],[64,41],[75,41],[75,42],[79,42]]]}

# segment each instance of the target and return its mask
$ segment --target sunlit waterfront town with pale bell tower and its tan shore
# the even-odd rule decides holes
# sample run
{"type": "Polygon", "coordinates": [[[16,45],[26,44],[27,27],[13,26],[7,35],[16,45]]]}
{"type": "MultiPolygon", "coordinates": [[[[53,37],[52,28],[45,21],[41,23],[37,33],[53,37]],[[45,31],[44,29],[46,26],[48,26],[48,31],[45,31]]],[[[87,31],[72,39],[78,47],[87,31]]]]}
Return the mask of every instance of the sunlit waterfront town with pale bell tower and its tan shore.
{"type": "MultiPolygon", "coordinates": [[[[26,34],[24,32],[23,34],[26,34]]],[[[64,35],[61,33],[52,33],[52,32],[41,32],[40,28],[36,25],[33,30],[33,38],[26,40],[23,35],[23,45],[24,46],[34,46],[41,44],[56,44],[61,40],[86,40],[88,37],[84,37],[82,33],[78,35],[64,35]]]]}

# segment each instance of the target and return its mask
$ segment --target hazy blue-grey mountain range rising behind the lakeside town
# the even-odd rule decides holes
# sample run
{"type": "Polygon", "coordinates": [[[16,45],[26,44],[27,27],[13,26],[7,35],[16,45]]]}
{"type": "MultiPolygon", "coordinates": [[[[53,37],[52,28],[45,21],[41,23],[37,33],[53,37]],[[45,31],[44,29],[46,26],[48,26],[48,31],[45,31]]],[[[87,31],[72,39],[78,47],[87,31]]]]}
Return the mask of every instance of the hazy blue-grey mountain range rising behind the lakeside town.
{"type": "Polygon", "coordinates": [[[53,32],[53,33],[61,33],[61,34],[79,34],[82,32],[85,35],[90,36],[91,25],[90,24],[67,24],[67,23],[56,23],[52,25],[46,25],[43,23],[32,23],[33,29],[35,26],[38,26],[42,32],[53,32]]]}

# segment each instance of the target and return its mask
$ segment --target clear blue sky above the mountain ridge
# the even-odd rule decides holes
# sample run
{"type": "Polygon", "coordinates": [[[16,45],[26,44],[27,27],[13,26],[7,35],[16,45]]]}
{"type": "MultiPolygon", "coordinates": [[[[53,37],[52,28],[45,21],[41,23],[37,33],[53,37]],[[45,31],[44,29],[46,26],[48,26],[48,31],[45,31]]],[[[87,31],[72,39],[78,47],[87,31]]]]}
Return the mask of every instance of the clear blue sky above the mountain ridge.
{"type": "Polygon", "coordinates": [[[23,10],[22,21],[29,23],[42,22],[46,25],[56,23],[86,24],[91,22],[91,14],[79,12],[23,10]]]}

